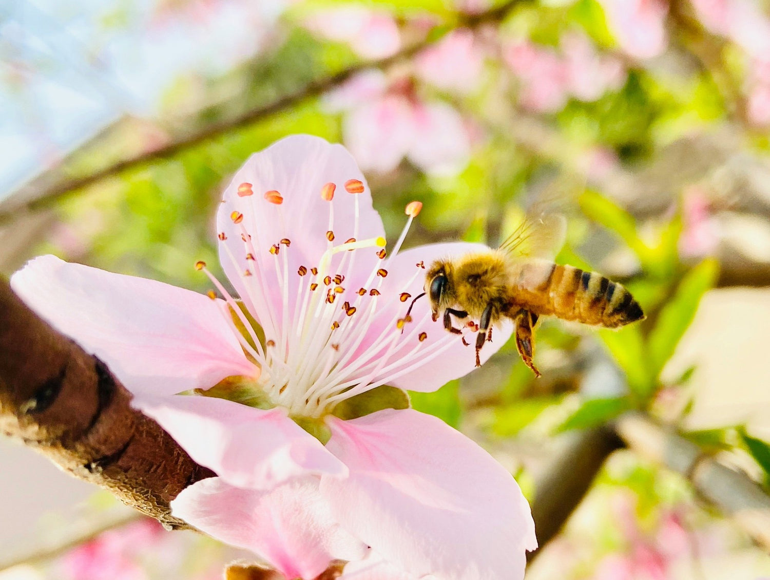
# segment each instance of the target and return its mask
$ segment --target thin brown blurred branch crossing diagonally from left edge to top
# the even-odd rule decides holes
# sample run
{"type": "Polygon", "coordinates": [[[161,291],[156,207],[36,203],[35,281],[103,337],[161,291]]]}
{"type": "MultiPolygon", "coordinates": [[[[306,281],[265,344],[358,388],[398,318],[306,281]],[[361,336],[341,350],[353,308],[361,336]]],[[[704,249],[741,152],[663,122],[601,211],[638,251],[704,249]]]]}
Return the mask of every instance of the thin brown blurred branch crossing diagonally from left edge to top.
{"type": "MultiPolygon", "coordinates": [[[[496,8],[490,8],[486,12],[480,12],[476,15],[460,15],[455,23],[455,28],[464,26],[467,28],[477,28],[487,22],[494,22],[504,18],[508,11],[511,10],[517,4],[523,4],[528,0],[507,0],[502,5],[496,8]]],[[[67,176],[61,176],[62,179],[55,179],[51,173],[44,174],[37,179],[33,179],[32,182],[16,189],[8,196],[7,202],[2,204],[3,209],[0,210],[0,225],[8,223],[13,220],[14,214],[19,211],[36,211],[49,207],[57,199],[62,198],[68,193],[72,193],[77,189],[82,189],[87,186],[91,186],[103,179],[107,179],[112,176],[116,176],[119,173],[139,166],[144,166],[147,163],[151,163],[158,159],[168,159],[175,156],[177,153],[181,153],[185,149],[189,149],[192,146],[199,145],[199,143],[215,139],[222,136],[227,132],[236,131],[243,127],[252,125],[253,123],[264,119],[267,116],[276,114],[277,112],[288,109],[291,106],[299,104],[306,99],[312,99],[317,96],[323,95],[330,89],[341,85],[346,80],[350,79],[357,73],[370,68],[387,69],[391,65],[408,59],[411,56],[417,54],[427,46],[437,42],[440,39],[440,35],[432,36],[429,39],[425,39],[420,42],[415,42],[407,48],[397,52],[397,54],[387,57],[386,59],[379,59],[374,61],[362,62],[357,65],[350,66],[348,69],[337,72],[336,74],[326,76],[323,79],[310,82],[303,88],[289,95],[280,97],[273,102],[269,102],[263,106],[257,106],[254,109],[244,112],[239,116],[235,116],[232,119],[226,119],[223,121],[212,122],[209,125],[204,126],[195,132],[189,132],[186,135],[180,135],[172,142],[153,149],[152,151],[146,151],[135,156],[122,159],[117,163],[106,166],[103,169],[99,169],[89,175],[75,178],[67,178],[67,176]],[[51,183],[51,182],[54,183],[51,183]],[[13,199],[21,199],[21,202],[14,203],[13,199]]],[[[56,169],[54,173],[65,173],[65,170],[56,169]]]]}

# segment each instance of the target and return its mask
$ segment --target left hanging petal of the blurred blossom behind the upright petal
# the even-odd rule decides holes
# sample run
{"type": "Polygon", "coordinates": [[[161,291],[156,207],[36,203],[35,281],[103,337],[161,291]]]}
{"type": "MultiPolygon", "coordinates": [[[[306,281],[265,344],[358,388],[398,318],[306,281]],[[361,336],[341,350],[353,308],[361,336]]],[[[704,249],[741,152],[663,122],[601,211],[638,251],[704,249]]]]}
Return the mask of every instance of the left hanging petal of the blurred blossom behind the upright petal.
{"type": "Polygon", "coordinates": [[[345,145],[364,171],[395,169],[414,139],[409,102],[389,95],[353,109],[343,121],[345,145]]]}

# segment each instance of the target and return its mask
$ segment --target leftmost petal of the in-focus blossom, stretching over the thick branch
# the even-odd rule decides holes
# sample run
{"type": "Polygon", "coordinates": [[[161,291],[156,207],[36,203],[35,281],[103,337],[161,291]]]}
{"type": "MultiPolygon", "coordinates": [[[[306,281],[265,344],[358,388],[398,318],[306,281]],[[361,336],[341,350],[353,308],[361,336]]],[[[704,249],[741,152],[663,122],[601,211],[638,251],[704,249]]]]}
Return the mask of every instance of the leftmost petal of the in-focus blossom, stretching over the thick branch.
{"type": "Polygon", "coordinates": [[[31,260],[11,286],[53,327],[104,360],[133,394],[173,394],[259,374],[221,300],[56,256],[31,260]]]}

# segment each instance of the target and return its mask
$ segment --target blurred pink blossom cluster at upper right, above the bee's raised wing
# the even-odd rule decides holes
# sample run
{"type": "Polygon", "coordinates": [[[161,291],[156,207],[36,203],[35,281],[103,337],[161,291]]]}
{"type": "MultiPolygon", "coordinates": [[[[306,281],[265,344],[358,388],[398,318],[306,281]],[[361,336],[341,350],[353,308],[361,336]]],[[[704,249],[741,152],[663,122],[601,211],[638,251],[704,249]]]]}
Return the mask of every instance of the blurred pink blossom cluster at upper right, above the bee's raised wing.
{"type": "Polygon", "coordinates": [[[622,62],[601,55],[581,32],[565,33],[559,51],[515,42],[504,49],[504,60],[521,79],[521,105],[536,112],[560,111],[571,97],[594,101],[620,88],[626,78],[622,62]]]}

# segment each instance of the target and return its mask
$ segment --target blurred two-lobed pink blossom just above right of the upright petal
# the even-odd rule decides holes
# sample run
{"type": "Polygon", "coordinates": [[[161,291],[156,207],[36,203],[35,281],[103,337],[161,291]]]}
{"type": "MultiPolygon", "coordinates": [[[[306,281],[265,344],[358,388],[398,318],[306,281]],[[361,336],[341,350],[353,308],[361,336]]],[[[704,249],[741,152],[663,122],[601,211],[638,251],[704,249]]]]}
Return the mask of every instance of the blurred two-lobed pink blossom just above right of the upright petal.
{"type": "Polygon", "coordinates": [[[370,71],[327,98],[331,110],[346,110],[343,136],[364,170],[387,173],[409,159],[432,175],[452,175],[467,166],[470,135],[463,118],[443,101],[417,96],[413,82],[389,82],[370,71]]]}

